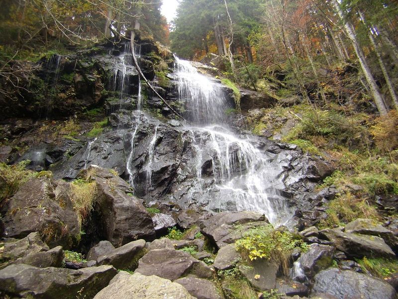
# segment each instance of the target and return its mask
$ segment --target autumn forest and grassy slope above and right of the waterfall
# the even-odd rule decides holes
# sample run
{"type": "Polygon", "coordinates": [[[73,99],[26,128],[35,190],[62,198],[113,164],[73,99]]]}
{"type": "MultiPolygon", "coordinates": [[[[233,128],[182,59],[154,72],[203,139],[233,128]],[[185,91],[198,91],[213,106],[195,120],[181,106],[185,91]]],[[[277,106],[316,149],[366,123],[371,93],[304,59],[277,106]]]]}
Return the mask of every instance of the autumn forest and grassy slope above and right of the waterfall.
{"type": "MultiPolygon", "coordinates": [[[[184,0],[170,36],[161,2],[0,4],[2,102],[31,92],[30,74],[43,57],[117,43],[139,28],[143,38],[165,44],[170,38],[183,58],[216,66],[237,98],[239,86],[263,95],[267,101],[244,111],[247,129],[333,163],[337,171],[324,186],[338,185],[342,192],[330,204],[325,225],[358,217],[380,220],[372,202],[398,194],[393,0],[184,0]]],[[[167,70],[158,75],[167,83],[167,70]]],[[[239,112],[228,113],[239,117],[239,112]]]]}

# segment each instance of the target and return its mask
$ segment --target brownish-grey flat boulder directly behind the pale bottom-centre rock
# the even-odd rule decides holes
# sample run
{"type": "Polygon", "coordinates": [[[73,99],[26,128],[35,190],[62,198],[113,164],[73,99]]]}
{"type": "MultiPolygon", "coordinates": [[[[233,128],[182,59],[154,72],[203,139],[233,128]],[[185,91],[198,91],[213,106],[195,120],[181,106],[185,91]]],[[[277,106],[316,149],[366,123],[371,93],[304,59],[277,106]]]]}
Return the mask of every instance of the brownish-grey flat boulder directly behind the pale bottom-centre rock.
{"type": "MultiPolygon", "coordinates": [[[[184,274],[198,273],[199,276],[209,276],[208,267],[203,262],[194,259],[189,253],[174,249],[153,249],[138,262],[136,272],[143,275],[157,275],[175,281],[184,274]],[[205,272],[204,275],[202,272],[205,272]]],[[[210,271],[211,272],[211,271],[210,271]]]]}

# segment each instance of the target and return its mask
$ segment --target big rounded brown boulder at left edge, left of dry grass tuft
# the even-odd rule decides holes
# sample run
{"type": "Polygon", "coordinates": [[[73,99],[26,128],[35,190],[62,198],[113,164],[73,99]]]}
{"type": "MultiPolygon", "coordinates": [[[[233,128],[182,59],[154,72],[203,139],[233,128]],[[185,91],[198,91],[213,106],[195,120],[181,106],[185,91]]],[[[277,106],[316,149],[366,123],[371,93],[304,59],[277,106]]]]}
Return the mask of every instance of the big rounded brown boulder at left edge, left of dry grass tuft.
{"type": "Polygon", "coordinates": [[[80,239],[80,226],[69,193],[69,184],[64,181],[46,177],[29,180],[5,206],[4,235],[24,238],[39,232],[50,248],[71,247],[80,239]]]}

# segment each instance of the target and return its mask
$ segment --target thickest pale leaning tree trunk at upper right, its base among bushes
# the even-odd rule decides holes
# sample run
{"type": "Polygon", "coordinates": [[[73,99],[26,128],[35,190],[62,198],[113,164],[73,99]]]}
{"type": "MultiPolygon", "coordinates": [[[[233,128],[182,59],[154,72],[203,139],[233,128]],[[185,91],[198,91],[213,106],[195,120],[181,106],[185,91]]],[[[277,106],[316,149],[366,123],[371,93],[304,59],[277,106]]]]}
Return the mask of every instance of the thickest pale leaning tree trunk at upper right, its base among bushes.
{"type": "Polygon", "coordinates": [[[379,110],[379,113],[381,115],[387,114],[387,108],[386,105],[384,104],[383,96],[380,92],[379,87],[376,84],[375,78],[372,75],[372,72],[366,63],[365,60],[365,55],[362,52],[362,49],[357,41],[357,37],[355,35],[355,30],[354,27],[344,18],[344,13],[340,8],[339,3],[337,0],[332,0],[334,7],[337,10],[337,13],[339,14],[340,18],[344,21],[344,28],[346,30],[348,38],[351,40],[351,43],[354,47],[355,53],[358,57],[359,63],[361,65],[362,71],[364,72],[366,81],[368,82],[370,86],[370,90],[372,92],[373,100],[377,106],[377,109],[379,110]]]}

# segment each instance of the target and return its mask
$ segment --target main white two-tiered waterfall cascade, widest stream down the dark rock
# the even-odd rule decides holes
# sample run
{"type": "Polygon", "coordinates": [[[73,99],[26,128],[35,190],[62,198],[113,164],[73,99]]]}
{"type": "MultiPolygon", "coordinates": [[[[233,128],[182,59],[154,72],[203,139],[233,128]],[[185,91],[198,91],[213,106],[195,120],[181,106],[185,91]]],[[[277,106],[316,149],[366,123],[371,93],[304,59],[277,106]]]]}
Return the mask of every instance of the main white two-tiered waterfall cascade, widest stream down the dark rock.
{"type": "Polygon", "coordinates": [[[194,151],[191,167],[199,180],[206,157],[212,161],[212,176],[219,193],[216,199],[205,203],[207,208],[260,211],[273,224],[290,219],[285,199],[274,188],[279,172],[270,167],[270,157],[223,125],[228,100],[222,86],[178,58],[175,77],[179,99],[190,112],[190,121],[201,125],[189,128],[188,134],[194,151]]]}

